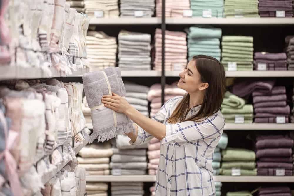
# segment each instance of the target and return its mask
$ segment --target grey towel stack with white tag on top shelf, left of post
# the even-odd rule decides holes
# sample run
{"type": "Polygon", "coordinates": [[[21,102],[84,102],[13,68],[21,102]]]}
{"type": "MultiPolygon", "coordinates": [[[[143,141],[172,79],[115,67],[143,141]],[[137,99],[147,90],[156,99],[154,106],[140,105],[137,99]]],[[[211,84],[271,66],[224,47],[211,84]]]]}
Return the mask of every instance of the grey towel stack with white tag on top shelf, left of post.
{"type": "Polygon", "coordinates": [[[151,17],[154,14],[155,2],[154,0],[121,0],[120,1],[120,17],[151,17]],[[140,12],[137,16],[136,12],[140,12]],[[142,13],[143,12],[143,16],[142,13]]]}

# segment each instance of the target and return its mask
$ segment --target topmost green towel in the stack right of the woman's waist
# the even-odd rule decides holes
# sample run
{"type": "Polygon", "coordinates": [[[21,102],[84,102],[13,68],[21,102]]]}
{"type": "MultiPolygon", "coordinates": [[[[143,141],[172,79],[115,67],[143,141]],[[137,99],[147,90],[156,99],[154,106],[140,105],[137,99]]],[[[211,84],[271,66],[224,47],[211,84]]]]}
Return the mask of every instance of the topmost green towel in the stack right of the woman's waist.
{"type": "Polygon", "coordinates": [[[227,148],[222,151],[223,161],[255,161],[255,153],[243,148],[227,148]]]}

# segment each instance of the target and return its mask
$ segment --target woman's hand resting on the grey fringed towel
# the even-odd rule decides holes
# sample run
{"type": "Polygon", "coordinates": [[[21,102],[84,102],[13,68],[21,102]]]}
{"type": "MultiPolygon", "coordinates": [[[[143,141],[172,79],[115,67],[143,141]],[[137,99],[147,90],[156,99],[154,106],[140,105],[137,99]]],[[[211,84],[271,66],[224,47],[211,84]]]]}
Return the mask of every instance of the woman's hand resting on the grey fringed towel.
{"type": "Polygon", "coordinates": [[[112,92],[112,95],[104,95],[101,99],[106,108],[110,108],[118,113],[125,113],[131,105],[127,100],[112,92]]]}

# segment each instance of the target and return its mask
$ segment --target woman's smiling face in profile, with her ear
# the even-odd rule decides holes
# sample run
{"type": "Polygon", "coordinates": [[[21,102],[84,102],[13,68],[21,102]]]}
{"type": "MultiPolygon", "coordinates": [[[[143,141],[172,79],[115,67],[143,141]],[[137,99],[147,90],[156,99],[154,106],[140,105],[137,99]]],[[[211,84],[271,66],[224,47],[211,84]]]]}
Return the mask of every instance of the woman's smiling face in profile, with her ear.
{"type": "Polygon", "coordinates": [[[189,94],[193,94],[197,91],[204,90],[208,87],[208,83],[201,81],[201,76],[196,68],[196,60],[191,60],[184,71],[179,73],[180,80],[178,82],[178,88],[186,90],[189,94]]]}

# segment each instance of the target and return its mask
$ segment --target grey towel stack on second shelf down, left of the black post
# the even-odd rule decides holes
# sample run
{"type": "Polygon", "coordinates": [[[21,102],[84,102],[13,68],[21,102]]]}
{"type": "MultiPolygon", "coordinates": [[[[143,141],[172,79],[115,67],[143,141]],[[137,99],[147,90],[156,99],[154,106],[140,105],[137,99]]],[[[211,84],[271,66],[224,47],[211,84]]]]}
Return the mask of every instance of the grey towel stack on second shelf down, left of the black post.
{"type": "Polygon", "coordinates": [[[120,31],[118,34],[118,66],[121,70],[150,70],[150,42],[150,34],[120,31]]]}

